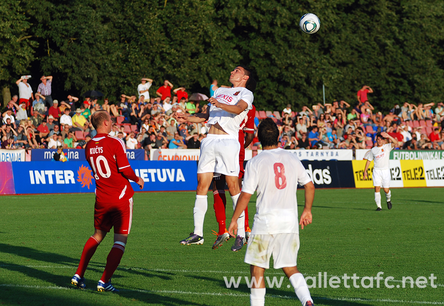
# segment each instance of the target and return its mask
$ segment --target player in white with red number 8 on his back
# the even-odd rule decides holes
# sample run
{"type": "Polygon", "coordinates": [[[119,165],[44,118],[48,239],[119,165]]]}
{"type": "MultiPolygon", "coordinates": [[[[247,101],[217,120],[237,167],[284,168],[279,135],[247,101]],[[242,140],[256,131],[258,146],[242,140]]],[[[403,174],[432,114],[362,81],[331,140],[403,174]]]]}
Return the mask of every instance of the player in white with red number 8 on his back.
{"type": "Polygon", "coordinates": [[[258,137],[263,151],[247,163],[242,193],[228,228],[230,235],[235,236],[237,218],[257,190],[256,214],[245,254],[245,262],[251,265],[251,277],[255,280],[250,302],[252,306],[265,303],[263,275],[273,255],[274,269],[282,268],[302,305],[312,306],[313,300],[304,276],[297,270],[296,259],[298,224],[303,229],[312,222],[315,187],[296,155],[278,147],[279,130],[271,118],[259,124],[258,137]],[[305,188],[305,206],[299,222],[297,184],[305,188]]]}

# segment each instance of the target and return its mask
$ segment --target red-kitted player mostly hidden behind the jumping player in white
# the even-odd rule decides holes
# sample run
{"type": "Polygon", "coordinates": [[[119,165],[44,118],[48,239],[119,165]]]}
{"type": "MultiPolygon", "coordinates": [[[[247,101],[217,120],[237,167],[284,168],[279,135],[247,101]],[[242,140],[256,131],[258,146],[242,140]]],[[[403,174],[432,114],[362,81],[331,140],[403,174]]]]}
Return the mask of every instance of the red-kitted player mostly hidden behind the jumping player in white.
{"type": "MultiPolygon", "coordinates": [[[[242,121],[239,127],[239,189],[242,189],[242,178],[244,176],[244,160],[245,160],[245,148],[247,148],[254,138],[255,133],[255,115],[256,107],[252,105],[253,108],[248,111],[247,117],[242,121]],[[244,132],[247,135],[244,135],[244,132]]],[[[213,244],[213,249],[221,246],[222,243],[230,238],[225,225],[225,208],[226,208],[226,197],[225,197],[225,175],[215,177],[213,179],[213,198],[214,198],[214,212],[216,214],[216,221],[219,224],[219,232],[214,234],[218,236],[213,244]]],[[[250,237],[251,229],[248,224],[248,206],[245,208],[245,238],[248,241],[250,237]]]]}

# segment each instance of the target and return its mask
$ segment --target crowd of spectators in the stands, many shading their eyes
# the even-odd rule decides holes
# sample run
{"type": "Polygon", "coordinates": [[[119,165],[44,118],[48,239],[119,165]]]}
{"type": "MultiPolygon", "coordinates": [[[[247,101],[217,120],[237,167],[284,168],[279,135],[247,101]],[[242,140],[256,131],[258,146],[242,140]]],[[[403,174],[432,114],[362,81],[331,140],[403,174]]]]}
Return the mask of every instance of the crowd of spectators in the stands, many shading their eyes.
{"type": "MultiPolygon", "coordinates": [[[[99,97],[80,100],[69,95],[59,102],[51,96],[52,76],[40,78],[35,94],[28,83],[30,77],[17,80],[19,95],[12,97],[1,114],[1,148],[84,148],[96,134],[90,117],[100,109],[111,114],[111,135],[122,139],[128,149],[145,149],[147,153],[155,148],[196,149],[207,133],[205,124],[174,120],[174,112],[203,112],[207,103],[188,99],[185,87],[174,89],[168,80],[155,91],[156,97],[149,96],[153,80],[144,77],[136,95],[121,94],[117,101],[99,101],[99,97]]],[[[217,88],[214,80],[210,93],[217,88]]],[[[300,110],[288,104],[282,112],[265,115],[258,111],[255,124],[272,117],[281,132],[279,145],[285,149],[365,149],[373,146],[378,132],[397,138],[402,149],[444,149],[443,103],[405,102],[383,115],[368,100],[372,92],[363,86],[354,105],[340,100],[300,110]]],[[[252,146],[260,148],[256,137],[252,146]]]]}

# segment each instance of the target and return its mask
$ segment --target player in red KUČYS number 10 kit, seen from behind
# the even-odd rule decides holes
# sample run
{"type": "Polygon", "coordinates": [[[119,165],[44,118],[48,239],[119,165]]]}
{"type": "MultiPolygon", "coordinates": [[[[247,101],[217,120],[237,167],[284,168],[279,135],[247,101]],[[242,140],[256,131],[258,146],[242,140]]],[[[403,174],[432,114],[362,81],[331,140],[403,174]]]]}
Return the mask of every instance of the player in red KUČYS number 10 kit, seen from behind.
{"type": "Polygon", "coordinates": [[[86,144],[85,156],[96,179],[95,230],[86,241],[71,283],[80,289],[86,287],[83,277],[86,267],[100,242],[114,227],[114,245],[97,290],[118,291],[111,285],[111,276],[122,259],[131,230],[134,191],[129,180],[137,182],[140,189],[144,187],[144,180],[131,169],[123,141],[108,135],[112,127],[110,114],[106,110],[96,111],[91,116],[91,123],[97,135],[86,144]]]}

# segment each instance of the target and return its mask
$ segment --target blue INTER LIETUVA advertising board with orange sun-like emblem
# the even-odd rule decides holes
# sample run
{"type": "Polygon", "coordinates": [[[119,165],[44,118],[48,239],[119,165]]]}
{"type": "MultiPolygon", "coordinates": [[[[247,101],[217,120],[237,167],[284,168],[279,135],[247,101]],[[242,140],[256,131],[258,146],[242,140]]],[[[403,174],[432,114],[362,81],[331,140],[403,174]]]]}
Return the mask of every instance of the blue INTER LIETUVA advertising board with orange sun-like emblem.
{"type": "MultiPolygon", "coordinates": [[[[196,162],[130,161],[130,165],[136,175],[145,181],[142,191],[196,189],[196,162]]],[[[95,179],[87,162],[14,163],[12,173],[16,194],[84,193],[95,190],[95,179]]],[[[135,191],[140,191],[136,183],[131,185],[135,191]]]]}

